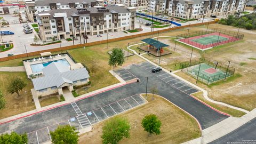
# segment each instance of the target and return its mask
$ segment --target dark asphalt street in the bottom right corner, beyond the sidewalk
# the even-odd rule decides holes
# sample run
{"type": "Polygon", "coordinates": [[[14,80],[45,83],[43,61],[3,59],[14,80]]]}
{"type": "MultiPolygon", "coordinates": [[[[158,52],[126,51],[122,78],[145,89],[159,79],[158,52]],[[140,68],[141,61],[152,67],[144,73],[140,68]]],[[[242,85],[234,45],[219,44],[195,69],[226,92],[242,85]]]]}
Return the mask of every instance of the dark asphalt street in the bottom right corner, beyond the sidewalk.
{"type": "Polygon", "coordinates": [[[256,143],[256,118],[253,118],[235,131],[210,143],[256,143]]]}

